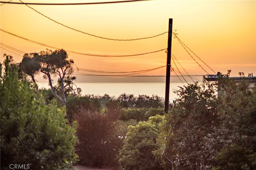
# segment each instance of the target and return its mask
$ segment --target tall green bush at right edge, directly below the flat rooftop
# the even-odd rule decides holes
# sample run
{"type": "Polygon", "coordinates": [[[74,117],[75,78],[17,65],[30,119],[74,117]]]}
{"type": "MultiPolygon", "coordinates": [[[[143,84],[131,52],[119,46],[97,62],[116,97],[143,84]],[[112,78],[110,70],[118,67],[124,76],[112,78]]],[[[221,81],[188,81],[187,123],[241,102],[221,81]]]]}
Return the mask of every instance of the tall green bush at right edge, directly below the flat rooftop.
{"type": "Polygon", "coordinates": [[[256,86],[251,90],[225,78],[218,82],[218,116],[216,133],[222,149],[216,155],[215,169],[256,169],[256,86]]]}

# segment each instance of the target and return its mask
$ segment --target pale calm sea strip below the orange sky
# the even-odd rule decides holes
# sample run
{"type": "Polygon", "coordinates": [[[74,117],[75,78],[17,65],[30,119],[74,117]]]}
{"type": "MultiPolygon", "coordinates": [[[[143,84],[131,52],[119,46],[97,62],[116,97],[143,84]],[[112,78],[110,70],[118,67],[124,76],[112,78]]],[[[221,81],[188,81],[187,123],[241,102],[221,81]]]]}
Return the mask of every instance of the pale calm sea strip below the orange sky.
{"type": "MultiPolygon", "coordinates": [[[[38,83],[38,85],[39,88],[50,88],[48,83],[38,83]]],[[[109,94],[110,96],[117,97],[122,93],[134,94],[134,96],[139,94],[152,96],[154,94],[165,98],[165,83],[76,83],[76,86],[82,89],[82,95],[94,94],[102,96],[109,94]]],[[[170,101],[178,97],[173,93],[174,90],[179,89],[178,86],[184,86],[184,84],[170,84],[170,101]]]]}

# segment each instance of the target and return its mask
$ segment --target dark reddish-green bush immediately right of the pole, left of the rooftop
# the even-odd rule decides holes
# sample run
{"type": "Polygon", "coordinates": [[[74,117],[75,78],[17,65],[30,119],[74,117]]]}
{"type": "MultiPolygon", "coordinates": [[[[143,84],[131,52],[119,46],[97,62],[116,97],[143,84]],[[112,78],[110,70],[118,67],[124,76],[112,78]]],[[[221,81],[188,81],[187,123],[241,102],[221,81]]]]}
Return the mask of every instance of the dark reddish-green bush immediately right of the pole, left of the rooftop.
{"type": "Polygon", "coordinates": [[[218,122],[215,88],[212,84],[189,84],[176,91],[180,98],[174,101],[166,124],[159,135],[160,149],[154,152],[166,169],[207,169],[212,154],[204,150],[205,137],[218,122]]]}

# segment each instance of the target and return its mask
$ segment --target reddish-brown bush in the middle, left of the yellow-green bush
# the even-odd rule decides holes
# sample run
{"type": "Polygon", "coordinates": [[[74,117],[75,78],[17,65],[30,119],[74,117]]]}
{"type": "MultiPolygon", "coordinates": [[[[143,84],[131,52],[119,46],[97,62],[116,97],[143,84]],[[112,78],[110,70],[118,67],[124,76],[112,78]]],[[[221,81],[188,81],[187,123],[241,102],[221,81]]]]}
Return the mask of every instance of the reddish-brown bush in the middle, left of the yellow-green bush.
{"type": "Polygon", "coordinates": [[[110,102],[100,111],[80,109],[76,146],[81,163],[90,166],[117,164],[117,155],[122,146],[119,134],[120,108],[117,102],[110,102]]]}

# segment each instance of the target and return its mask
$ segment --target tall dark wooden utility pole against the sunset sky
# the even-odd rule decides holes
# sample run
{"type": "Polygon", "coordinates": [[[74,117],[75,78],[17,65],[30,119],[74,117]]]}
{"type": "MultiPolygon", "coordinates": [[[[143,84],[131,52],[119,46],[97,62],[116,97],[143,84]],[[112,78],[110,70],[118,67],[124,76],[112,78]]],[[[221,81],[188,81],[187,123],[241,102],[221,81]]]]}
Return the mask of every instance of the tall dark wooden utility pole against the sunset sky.
{"type": "Polygon", "coordinates": [[[168,31],[166,81],[165,81],[165,102],[164,102],[164,111],[165,111],[165,113],[168,113],[168,110],[169,110],[171,49],[172,49],[172,18],[169,18],[169,29],[168,30],[169,31],[168,31]]]}

